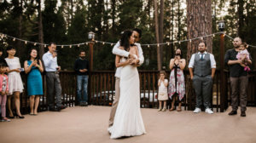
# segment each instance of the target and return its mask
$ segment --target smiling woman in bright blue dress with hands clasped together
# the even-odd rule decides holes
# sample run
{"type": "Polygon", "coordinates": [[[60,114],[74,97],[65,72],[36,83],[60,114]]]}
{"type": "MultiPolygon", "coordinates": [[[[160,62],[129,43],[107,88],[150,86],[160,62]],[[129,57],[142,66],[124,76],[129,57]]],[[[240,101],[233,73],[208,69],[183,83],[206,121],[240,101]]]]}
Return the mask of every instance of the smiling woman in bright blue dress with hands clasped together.
{"type": "Polygon", "coordinates": [[[44,72],[44,67],[39,60],[37,49],[31,49],[28,60],[24,63],[25,72],[27,75],[27,94],[30,96],[30,115],[38,115],[38,105],[40,96],[43,95],[43,81],[41,72],[44,72]]]}

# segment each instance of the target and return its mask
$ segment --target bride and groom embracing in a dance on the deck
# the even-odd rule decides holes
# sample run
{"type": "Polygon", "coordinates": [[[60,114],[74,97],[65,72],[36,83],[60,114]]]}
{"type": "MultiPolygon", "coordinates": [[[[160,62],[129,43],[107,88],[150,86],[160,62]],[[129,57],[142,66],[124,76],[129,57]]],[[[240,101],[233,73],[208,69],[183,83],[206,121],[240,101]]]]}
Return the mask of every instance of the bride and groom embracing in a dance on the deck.
{"type": "Polygon", "coordinates": [[[143,64],[143,50],[136,43],[142,31],[124,31],[113,48],[117,67],[115,99],[109,117],[108,132],[111,139],[145,134],[140,110],[140,81],[137,66],[143,64]]]}

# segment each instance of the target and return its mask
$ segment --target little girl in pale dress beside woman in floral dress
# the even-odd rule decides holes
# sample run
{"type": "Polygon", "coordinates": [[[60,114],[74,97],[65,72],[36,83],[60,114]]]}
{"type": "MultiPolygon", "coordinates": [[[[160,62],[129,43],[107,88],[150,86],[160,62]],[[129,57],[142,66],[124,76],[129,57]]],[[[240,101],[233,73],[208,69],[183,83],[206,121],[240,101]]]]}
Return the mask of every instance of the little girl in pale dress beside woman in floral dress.
{"type": "Polygon", "coordinates": [[[160,72],[160,79],[158,80],[158,100],[159,100],[159,112],[166,112],[166,100],[168,100],[167,93],[168,79],[166,79],[166,72],[160,72]],[[162,108],[162,101],[164,106],[162,108]]]}

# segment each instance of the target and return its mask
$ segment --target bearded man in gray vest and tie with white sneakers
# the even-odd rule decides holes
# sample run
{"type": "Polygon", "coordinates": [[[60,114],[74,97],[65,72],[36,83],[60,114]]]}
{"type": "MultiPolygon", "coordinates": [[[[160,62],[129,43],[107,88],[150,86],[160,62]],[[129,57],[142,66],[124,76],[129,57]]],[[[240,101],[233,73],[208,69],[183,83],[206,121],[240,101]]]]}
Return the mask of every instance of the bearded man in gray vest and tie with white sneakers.
{"type": "Polygon", "coordinates": [[[206,112],[212,114],[212,79],[216,70],[216,61],[213,54],[207,53],[207,43],[199,43],[198,53],[192,54],[189,61],[189,73],[193,81],[196,94],[195,113],[201,112],[202,100],[206,112]],[[194,71],[193,71],[194,69],[194,71]]]}

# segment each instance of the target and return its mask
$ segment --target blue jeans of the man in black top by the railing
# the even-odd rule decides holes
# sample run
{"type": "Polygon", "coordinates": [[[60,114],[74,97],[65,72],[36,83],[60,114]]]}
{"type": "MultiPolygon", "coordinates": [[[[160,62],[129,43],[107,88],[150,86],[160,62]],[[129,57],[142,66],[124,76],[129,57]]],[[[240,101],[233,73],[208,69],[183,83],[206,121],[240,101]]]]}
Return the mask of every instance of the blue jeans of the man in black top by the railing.
{"type": "Polygon", "coordinates": [[[88,94],[87,94],[88,75],[78,75],[77,82],[78,82],[78,101],[79,103],[85,103],[88,101],[88,94]],[[82,89],[84,89],[83,96],[82,96],[82,89]]]}

